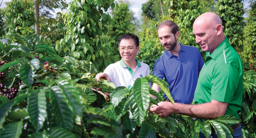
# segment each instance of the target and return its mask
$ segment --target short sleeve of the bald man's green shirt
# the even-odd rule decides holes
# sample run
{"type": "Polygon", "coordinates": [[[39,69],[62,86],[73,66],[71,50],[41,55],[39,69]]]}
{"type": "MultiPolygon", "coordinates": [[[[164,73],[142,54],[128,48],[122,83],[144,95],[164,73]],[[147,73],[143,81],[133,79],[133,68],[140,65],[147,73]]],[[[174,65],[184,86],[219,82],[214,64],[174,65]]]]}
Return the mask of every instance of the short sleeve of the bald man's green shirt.
{"type": "Polygon", "coordinates": [[[238,87],[239,74],[238,70],[230,64],[216,67],[211,80],[211,99],[229,103],[238,87]]]}

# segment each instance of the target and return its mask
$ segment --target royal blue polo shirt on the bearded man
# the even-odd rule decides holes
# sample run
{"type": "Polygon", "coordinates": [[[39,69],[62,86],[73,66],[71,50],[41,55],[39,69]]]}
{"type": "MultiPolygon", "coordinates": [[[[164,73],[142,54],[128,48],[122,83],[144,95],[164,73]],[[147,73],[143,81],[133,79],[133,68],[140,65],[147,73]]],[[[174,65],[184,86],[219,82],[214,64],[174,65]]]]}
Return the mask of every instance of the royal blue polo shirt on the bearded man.
{"type": "MultiPolygon", "coordinates": [[[[202,69],[204,61],[197,47],[182,44],[180,46],[179,57],[164,51],[155,62],[153,75],[160,79],[165,78],[176,103],[191,104],[198,72],[202,69]]],[[[163,96],[167,98],[165,94],[163,96]]]]}

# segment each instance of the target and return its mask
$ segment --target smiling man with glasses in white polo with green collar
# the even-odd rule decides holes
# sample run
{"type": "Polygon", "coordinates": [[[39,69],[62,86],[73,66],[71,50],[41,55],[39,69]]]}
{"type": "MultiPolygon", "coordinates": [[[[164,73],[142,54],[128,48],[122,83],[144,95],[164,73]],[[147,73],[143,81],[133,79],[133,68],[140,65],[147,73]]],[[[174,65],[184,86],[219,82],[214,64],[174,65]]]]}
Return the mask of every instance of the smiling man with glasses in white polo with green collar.
{"type": "Polygon", "coordinates": [[[125,86],[129,89],[137,78],[150,75],[150,69],[147,64],[139,62],[136,58],[140,50],[138,36],[122,35],[118,39],[118,48],[122,59],[107,66],[103,73],[96,75],[95,79],[97,81],[101,78],[106,79],[113,82],[116,87],[125,86]]]}

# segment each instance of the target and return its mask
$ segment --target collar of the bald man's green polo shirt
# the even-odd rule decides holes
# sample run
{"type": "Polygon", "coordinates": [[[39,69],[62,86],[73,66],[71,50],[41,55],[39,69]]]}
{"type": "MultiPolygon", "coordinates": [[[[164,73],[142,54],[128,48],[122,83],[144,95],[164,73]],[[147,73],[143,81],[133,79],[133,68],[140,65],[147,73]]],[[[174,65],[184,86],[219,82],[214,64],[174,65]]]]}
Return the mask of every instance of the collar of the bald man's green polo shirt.
{"type": "Polygon", "coordinates": [[[206,52],[207,57],[211,57],[212,59],[216,60],[218,56],[222,53],[222,51],[229,45],[229,41],[227,37],[220,43],[220,45],[213,51],[211,54],[210,52],[206,52]]]}

